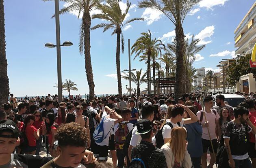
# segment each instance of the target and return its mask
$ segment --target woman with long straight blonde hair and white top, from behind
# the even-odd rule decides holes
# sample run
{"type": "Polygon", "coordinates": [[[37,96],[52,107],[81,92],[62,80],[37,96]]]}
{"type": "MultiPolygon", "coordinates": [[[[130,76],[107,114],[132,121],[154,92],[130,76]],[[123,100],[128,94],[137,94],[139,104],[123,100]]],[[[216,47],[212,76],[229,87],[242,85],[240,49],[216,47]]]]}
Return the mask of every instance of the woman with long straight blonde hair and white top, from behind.
{"type": "Polygon", "coordinates": [[[161,147],[168,168],[191,168],[192,162],[187,151],[187,132],[182,127],[171,130],[171,140],[161,147]]]}

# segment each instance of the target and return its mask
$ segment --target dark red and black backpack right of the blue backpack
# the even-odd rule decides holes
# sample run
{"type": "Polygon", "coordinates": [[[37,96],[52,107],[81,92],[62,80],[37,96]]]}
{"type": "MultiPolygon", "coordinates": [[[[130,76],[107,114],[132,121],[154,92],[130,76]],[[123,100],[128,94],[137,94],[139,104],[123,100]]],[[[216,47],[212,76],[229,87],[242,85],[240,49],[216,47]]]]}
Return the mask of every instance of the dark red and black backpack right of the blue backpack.
{"type": "Polygon", "coordinates": [[[129,130],[127,127],[127,124],[129,122],[125,123],[119,123],[118,128],[115,132],[115,148],[116,149],[123,149],[124,142],[126,140],[126,135],[129,134],[129,130]]]}

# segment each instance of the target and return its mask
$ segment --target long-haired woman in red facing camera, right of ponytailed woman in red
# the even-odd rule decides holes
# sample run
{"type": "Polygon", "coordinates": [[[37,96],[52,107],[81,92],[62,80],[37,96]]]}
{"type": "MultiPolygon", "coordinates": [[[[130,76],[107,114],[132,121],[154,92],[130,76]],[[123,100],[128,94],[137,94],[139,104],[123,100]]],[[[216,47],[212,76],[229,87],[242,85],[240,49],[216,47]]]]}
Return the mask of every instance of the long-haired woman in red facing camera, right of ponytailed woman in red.
{"type": "Polygon", "coordinates": [[[39,155],[41,144],[42,144],[42,135],[44,135],[46,133],[46,125],[43,122],[42,115],[38,110],[34,112],[34,115],[35,115],[35,122],[33,123],[33,126],[37,129],[41,130],[39,139],[36,140],[37,151],[35,154],[39,155]]]}

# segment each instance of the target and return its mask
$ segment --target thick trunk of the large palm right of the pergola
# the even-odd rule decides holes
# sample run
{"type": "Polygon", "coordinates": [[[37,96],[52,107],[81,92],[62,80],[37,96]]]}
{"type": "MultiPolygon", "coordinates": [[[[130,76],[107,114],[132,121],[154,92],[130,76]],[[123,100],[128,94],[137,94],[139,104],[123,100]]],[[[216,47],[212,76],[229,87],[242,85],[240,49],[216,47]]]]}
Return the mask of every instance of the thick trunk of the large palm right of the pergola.
{"type": "Polygon", "coordinates": [[[182,97],[182,87],[184,78],[182,75],[183,71],[183,55],[184,55],[184,31],[182,26],[176,26],[175,28],[177,46],[176,46],[176,77],[175,77],[175,101],[178,102],[178,98],[182,97]]]}

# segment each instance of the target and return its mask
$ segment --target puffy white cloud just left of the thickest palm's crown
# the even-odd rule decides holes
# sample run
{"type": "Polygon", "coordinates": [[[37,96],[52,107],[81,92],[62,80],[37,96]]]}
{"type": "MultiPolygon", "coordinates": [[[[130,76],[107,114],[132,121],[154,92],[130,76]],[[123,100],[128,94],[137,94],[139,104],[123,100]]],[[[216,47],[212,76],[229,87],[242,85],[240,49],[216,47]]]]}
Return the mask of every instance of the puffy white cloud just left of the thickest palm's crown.
{"type": "Polygon", "coordinates": [[[145,11],[143,12],[143,14],[141,15],[141,17],[143,17],[145,19],[145,21],[147,21],[147,25],[150,25],[154,21],[159,20],[162,15],[163,15],[163,13],[160,11],[146,8],[145,11]]]}

